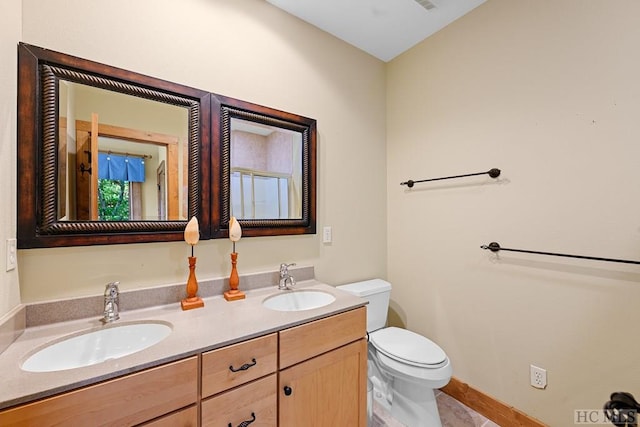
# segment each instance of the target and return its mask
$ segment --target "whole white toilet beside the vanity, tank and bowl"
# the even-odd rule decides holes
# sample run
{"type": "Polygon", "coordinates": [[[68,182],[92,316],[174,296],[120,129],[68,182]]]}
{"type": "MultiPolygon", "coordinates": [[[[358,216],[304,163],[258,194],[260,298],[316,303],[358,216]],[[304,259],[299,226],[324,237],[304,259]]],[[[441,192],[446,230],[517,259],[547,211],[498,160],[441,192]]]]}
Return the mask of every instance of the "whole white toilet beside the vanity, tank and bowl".
{"type": "Polygon", "coordinates": [[[441,427],[434,389],[451,379],[446,353],[422,335],[385,327],[391,295],[389,282],[372,279],[336,288],[369,302],[367,376],[373,383],[373,399],[407,427],[441,427]]]}

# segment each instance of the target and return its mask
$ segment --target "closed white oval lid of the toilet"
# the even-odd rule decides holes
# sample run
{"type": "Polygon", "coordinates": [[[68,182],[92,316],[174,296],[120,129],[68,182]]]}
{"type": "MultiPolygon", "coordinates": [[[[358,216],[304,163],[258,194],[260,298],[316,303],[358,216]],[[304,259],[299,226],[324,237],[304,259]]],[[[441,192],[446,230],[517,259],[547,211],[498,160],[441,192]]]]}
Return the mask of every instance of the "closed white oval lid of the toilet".
{"type": "Polygon", "coordinates": [[[370,335],[370,340],[381,353],[414,366],[436,368],[447,359],[436,343],[407,329],[380,329],[370,335]]]}

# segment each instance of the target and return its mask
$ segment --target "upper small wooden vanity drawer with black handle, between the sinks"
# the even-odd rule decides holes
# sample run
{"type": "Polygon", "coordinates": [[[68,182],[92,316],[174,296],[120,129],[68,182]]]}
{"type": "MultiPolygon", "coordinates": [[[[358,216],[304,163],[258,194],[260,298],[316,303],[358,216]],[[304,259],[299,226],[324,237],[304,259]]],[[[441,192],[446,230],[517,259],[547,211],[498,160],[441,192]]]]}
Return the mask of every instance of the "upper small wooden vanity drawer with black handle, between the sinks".
{"type": "Polygon", "coordinates": [[[275,372],[277,363],[278,334],[275,333],[204,353],[202,397],[275,372]]]}

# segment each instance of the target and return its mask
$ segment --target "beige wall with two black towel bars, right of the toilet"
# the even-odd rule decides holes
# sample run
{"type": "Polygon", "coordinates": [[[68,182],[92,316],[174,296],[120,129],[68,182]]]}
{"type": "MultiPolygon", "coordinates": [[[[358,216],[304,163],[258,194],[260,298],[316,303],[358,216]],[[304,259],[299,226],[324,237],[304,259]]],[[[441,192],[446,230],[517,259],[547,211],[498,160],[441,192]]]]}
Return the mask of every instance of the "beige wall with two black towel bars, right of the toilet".
{"type": "Polygon", "coordinates": [[[640,397],[640,269],[480,245],[640,260],[638,15],[633,0],[489,0],[387,69],[399,317],[458,378],[553,426],[640,397]]]}

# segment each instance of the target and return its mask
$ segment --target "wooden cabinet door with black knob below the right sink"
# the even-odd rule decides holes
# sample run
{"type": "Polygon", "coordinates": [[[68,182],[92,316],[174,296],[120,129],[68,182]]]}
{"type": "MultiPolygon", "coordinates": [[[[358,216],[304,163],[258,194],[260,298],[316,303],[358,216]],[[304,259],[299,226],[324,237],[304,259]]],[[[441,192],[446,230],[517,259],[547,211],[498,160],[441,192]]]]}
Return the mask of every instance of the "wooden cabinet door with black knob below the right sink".
{"type": "Polygon", "coordinates": [[[280,371],[280,427],[367,424],[367,342],[351,344],[280,371]]]}

